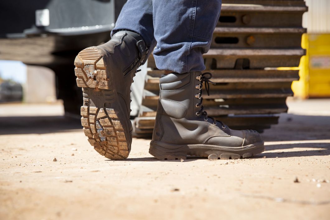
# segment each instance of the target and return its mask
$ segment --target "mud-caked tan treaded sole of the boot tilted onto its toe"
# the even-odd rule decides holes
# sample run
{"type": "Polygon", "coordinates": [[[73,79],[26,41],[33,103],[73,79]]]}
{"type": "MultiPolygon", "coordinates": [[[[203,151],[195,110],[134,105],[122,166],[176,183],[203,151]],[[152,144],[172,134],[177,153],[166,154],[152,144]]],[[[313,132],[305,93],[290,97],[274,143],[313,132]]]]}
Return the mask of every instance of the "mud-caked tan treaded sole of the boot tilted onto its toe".
{"type": "Polygon", "coordinates": [[[125,136],[127,120],[118,117],[122,109],[116,88],[110,83],[113,73],[107,70],[103,56],[92,48],[82,50],[74,64],[77,86],[82,87],[83,94],[81,122],[89,143],[108,159],[126,159],[131,138],[125,136]],[[106,108],[105,103],[115,108],[106,108]]]}

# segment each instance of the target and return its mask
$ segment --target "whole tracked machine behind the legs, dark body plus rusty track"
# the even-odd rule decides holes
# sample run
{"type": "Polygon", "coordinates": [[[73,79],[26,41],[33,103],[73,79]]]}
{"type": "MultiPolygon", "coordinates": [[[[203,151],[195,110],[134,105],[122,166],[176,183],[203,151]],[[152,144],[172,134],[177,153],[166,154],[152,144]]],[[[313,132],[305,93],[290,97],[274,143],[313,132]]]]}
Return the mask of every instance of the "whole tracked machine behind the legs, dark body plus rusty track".
{"type": "MultiPolygon", "coordinates": [[[[0,59],[54,70],[65,111],[79,114],[82,92],[75,85],[74,57],[82,49],[110,39],[124,3],[3,1],[0,59]]],[[[287,111],[285,100],[293,94],[291,83],[299,79],[298,70],[278,67],[297,67],[305,55],[300,44],[306,32],[302,15],[307,7],[303,0],[222,0],[222,4],[211,49],[204,55],[206,71],[213,74],[216,85],[211,86],[210,96],[203,96],[203,104],[210,116],[233,129],[263,131],[278,123],[279,113],[287,111]]],[[[144,90],[137,104],[135,136],[152,133],[162,73],[150,56],[145,80],[142,76],[144,90]]],[[[141,96],[134,93],[136,89],[132,91],[133,96],[141,96]]]]}

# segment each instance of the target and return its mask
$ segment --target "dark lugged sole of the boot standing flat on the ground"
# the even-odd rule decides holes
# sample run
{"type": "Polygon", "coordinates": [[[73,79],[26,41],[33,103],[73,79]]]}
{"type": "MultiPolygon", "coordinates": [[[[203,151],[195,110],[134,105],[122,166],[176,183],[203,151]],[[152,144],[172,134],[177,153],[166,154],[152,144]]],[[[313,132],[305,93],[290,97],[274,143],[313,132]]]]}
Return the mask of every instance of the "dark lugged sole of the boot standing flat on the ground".
{"type": "Polygon", "coordinates": [[[210,160],[228,160],[252,157],[265,150],[263,141],[237,147],[240,149],[233,148],[205,144],[177,145],[151,141],[149,153],[159,160],[185,160],[187,155],[207,157],[210,160]]]}

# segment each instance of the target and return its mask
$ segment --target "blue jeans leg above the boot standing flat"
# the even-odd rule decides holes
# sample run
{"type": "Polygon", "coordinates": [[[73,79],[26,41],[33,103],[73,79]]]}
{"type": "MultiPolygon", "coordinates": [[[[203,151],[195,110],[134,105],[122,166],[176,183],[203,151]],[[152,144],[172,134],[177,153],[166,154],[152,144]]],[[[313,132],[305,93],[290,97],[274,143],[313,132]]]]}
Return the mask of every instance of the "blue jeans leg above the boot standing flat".
{"type": "Polygon", "coordinates": [[[156,66],[177,73],[203,71],[221,0],[152,0],[156,66]]]}

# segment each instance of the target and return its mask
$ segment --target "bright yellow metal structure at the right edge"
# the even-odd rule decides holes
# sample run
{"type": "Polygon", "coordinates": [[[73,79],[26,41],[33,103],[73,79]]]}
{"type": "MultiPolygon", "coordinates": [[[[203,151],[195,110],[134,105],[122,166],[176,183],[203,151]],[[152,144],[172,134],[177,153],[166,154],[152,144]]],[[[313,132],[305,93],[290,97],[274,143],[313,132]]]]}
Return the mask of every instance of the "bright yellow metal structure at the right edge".
{"type": "Polygon", "coordinates": [[[301,98],[330,97],[330,34],[304,34],[299,81],[292,83],[294,95],[301,98]]]}

